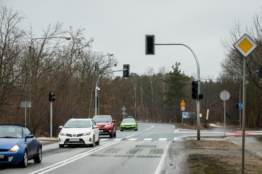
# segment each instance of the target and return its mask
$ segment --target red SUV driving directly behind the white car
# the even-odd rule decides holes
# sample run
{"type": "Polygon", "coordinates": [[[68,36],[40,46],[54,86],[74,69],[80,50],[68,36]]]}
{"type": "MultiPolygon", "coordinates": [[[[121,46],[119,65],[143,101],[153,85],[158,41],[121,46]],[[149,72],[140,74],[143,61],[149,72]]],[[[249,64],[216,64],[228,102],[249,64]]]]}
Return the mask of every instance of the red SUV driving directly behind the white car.
{"type": "Polygon", "coordinates": [[[95,115],[93,120],[98,126],[100,135],[109,135],[110,138],[117,136],[116,121],[111,115],[95,115]]]}

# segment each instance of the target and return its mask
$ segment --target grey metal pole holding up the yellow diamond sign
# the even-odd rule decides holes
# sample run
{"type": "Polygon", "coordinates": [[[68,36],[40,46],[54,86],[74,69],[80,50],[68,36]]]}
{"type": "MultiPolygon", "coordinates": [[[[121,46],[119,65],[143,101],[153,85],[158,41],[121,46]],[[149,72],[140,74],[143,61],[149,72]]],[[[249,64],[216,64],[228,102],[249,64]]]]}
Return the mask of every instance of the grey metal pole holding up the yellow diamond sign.
{"type": "Polygon", "coordinates": [[[246,67],[247,59],[243,56],[243,114],[242,114],[242,166],[241,173],[244,174],[244,160],[245,160],[245,122],[246,122],[246,67]]]}

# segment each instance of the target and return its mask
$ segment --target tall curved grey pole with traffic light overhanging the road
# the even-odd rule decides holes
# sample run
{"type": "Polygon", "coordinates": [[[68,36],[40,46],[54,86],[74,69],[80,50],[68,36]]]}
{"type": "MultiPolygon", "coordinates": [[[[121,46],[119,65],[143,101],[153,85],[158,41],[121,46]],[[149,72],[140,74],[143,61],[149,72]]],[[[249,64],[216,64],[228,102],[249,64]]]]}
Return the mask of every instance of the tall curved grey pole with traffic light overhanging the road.
{"type": "MultiPolygon", "coordinates": [[[[187,45],[185,44],[155,44],[155,45],[183,45],[185,47],[188,47],[189,50],[193,53],[193,55],[195,56],[195,59],[196,59],[196,66],[197,66],[197,86],[198,86],[198,89],[197,89],[197,93],[200,94],[200,70],[199,70],[199,63],[198,63],[198,59],[196,57],[196,54],[195,52],[187,45]]],[[[196,107],[196,112],[197,112],[197,140],[200,140],[200,117],[199,117],[199,114],[200,114],[200,100],[197,99],[197,107],[196,107]]]]}

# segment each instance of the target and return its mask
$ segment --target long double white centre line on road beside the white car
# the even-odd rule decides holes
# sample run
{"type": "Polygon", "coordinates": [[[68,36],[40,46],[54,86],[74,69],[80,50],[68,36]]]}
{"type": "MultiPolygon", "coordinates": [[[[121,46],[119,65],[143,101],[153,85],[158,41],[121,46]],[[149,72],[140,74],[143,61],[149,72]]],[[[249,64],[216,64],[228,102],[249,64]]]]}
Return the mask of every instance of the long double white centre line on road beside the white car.
{"type": "Polygon", "coordinates": [[[105,144],[105,145],[96,147],[96,148],[91,149],[91,150],[89,150],[89,151],[86,151],[86,152],[84,152],[84,153],[80,153],[80,154],[78,154],[78,155],[76,155],[76,156],[74,156],[74,157],[71,157],[71,158],[69,158],[69,159],[66,159],[66,160],[64,160],[64,161],[58,162],[58,163],[56,163],[56,164],[54,164],[54,165],[50,165],[50,166],[48,166],[48,167],[41,168],[41,169],[36,170],[36,171],[34,171],[34,172],[31,172],[31,173],[29,173],[29,174],[34,174],[34,173],[38,173],[38,172],[40,172],[40,173],[38,173],[38,174],[42,174],[42,173],[49,172],[49,171],[51,171],[51,170],[54,170],[54,169],[56,169],[56,168],[58,168],[58,167],[61,167],[61,166],[63,166],[63,165],[66,165],[66,164],[68,164],[68,163],[71,163],[71,162],[73,162],[73,161],[76,161],[76,160],[78,160],[78,159],[80,159],[80,158],[82,158],[82,157],[85,157],[85,156],[87,156],[87,155],[90,155],[91,153],[94,153],[94,152],[96,152],[96,151],[98,151],[98,150],[104,149],[105,147],[111,146],[111,145],[116,144],[116,143],[118,143],[118,142],[121,142],[121,141],[116,141],[116,142],[107,143],[107,144],[105,144]],[[47,170],[46,170],[46,169],[47,169],[47,170]]]}

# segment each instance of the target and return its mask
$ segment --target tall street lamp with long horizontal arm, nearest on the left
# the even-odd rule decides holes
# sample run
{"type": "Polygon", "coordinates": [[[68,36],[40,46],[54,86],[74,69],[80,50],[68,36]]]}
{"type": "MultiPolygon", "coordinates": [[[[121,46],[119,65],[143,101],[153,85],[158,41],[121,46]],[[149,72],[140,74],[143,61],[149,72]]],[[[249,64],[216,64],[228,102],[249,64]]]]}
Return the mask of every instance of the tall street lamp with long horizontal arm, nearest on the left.
{"type": "MultiPolygon", "coordinates": [[[[32,44],[33,44],[33,40],[37,40],[37,39],[50,39],[50,38],[63,38],[66,40],[70,40],[71,36],[58,36],[58,37],[42,37],[42,38],[33,38],[31,39],[31,43],[29,46],[29,58],[28,58],[28,85],[27,85],[27,99],[28,101],[31,101],[31,59],[32,59],[32,44]]],[[[28,118],[29,118],[29,123],[30,123],[30,108],[29,108],[29,112],[28,112],[28,118]]],[[[28,124],[30,127],[30,124],[28,124]]]]}

